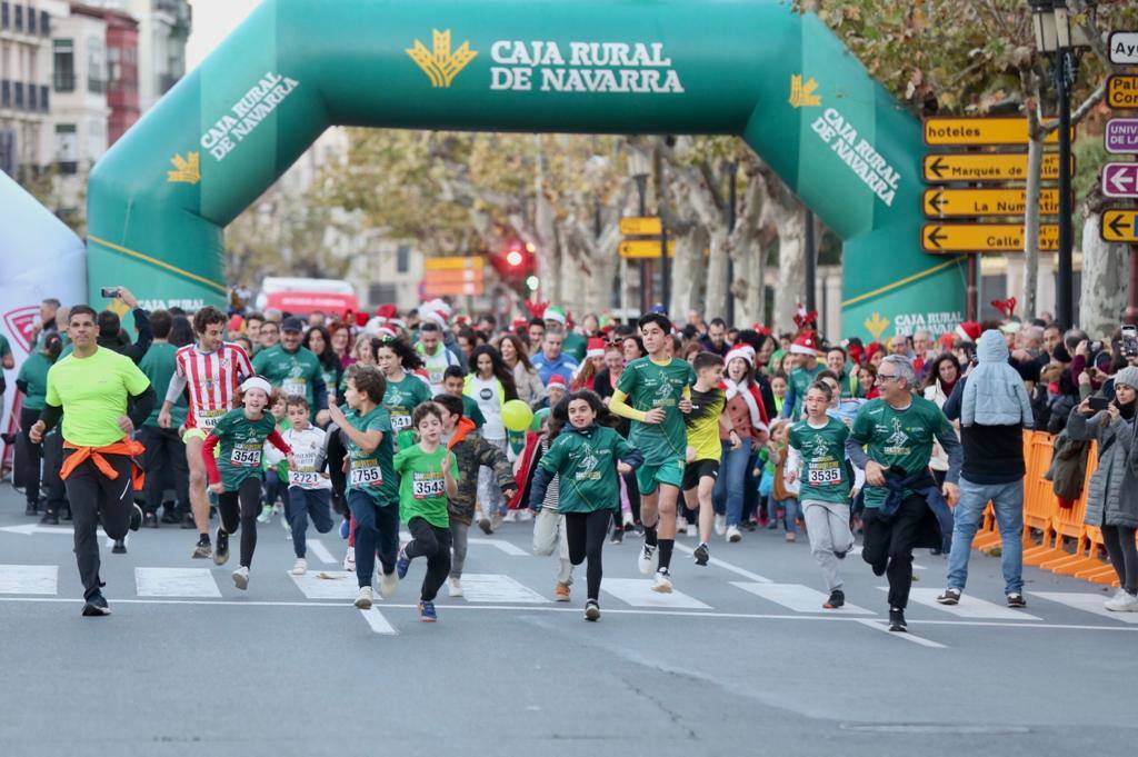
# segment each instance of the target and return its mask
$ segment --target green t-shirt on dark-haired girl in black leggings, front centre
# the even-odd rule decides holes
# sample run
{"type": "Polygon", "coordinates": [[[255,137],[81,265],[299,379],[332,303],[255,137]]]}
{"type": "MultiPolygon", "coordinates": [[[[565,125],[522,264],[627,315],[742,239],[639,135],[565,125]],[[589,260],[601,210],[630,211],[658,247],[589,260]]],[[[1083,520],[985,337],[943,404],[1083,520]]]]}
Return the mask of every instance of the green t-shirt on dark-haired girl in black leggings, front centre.
{"type": "Polygon", "coordinates": [[[558,511],[620,510],[617,461],[632,452],[633,446],[611,428],[578,431],[567,426],[538,463],[559,477],[558,511]]]}

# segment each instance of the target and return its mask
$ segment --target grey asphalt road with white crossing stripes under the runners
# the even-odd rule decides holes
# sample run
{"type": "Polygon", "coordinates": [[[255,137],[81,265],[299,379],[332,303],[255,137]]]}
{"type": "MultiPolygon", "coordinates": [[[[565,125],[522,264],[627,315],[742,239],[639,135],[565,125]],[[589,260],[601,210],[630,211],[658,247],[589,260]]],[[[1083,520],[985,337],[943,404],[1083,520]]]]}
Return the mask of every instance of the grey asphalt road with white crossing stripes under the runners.
{"type": "Polygon", "coordinates": [[[1138,614],[1096,611],[1100,586],[1031,568],[1028,608],[1008,610],[999,561],[980,554],[950,612],[930,599],[945,560],[922,552],[912,633],[890,634],[884,579],[856,556],[857,607],[827,612],[805,537],[719,540],[696,568],[682,536],[670,599],[646,590],[628,538],[605,546],[591,624],[583,569],[554,603],[555,559],[529,553],[530,524],[505,524],[471,544],[468,596],[440,596],[429,625],[421,561],[363,614],[335,533],[310,536],[296,581],[279,520],[263,526],[240,592],[236,561],[191,560],[192,532],[165,526],[104,550],[114,615],[90,619],[69,529],[36,523],[0,487],[5,757],[1038,757],[1131,754],[1138,737],[1138,614]]]}

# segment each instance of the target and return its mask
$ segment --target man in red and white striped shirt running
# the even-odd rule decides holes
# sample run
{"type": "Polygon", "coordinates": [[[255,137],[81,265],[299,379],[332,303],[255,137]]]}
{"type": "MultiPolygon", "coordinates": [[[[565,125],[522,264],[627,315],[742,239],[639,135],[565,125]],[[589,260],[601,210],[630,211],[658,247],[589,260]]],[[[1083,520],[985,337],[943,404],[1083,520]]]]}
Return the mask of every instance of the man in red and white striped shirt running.
{"type": "Polygon", "coordinates": [[[222,415],[237,403],[241,381],[253,376],[253,363],[240,345],[224,342],[228,319],[216,307],[203,307],[193,316],[198,344],[181,347],[174,356],[174,376],[170,379],[166,401],[158,414],[158,426],[170,428],[170,410],[190,389],[190,410],[185,415],[182,441],[190,467],[190,508],[198,527],[193,557],[208,559],[209,496],[206,493],[206,467],[201,445],[222,415]]]}

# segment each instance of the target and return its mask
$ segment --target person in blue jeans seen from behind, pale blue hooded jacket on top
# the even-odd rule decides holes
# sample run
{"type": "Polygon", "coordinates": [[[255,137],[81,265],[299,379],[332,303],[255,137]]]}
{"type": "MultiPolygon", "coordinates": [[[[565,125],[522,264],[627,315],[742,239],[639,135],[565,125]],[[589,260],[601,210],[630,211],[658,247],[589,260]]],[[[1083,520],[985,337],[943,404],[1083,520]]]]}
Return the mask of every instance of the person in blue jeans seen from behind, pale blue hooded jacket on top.
{"type": "Polygon", "coordinates": [[[937,598],[956,604],[968,578],[972,540],[990,501],[996,510],[1004,551],[1004,595],[1008,607],[1023,599],[1023,429],[1034,420],[1023,378],[1008,363],[1004,336],[984,331],[976,359],[945,403],[945,415],[960,421],[964,467],[960,500],[954,511],[953,549],[948,556],[948,587],[937,598]]]}

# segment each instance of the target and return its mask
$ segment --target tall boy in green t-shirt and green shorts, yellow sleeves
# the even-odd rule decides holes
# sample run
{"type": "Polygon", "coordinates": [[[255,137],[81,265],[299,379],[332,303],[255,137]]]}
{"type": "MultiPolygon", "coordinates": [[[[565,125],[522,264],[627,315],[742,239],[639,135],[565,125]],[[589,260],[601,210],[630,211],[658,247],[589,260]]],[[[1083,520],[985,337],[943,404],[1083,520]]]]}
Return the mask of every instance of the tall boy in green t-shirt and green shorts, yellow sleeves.
{"type": "Polygon", "coordinates": [[[671,321],[666,315],[648,313],[641,318],[640,329],[648,357],[625,367],[609,409],[632,419],[628,441],[644,453],[644,464],[636,471],[644,524],[637,567],[644,575],[654,569],[652,590],[667,594],[671,592],[676,502],[687,458],[684,414],[692,410],[690,394],[695,371],[691,363],[671,356],[671,321]]]}

